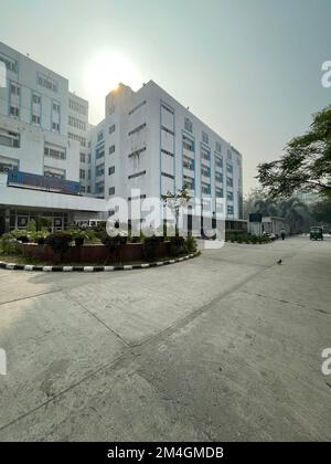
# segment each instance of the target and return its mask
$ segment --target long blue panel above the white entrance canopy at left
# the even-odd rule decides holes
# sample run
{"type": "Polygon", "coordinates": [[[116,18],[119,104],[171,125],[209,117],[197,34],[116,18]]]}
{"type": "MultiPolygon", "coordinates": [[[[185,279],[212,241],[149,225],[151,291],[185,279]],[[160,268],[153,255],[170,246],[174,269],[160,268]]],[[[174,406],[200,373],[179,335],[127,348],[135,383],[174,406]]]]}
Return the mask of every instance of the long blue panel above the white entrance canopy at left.
{"type": "Polygon", "coordinates": [[[33,190],[46,190],[50,192],[79,194],[81,182],[64,180],[55,177],[40,176],[18,170],[9,170],[7,184],[11,187],[24,187],[33,190]]]}

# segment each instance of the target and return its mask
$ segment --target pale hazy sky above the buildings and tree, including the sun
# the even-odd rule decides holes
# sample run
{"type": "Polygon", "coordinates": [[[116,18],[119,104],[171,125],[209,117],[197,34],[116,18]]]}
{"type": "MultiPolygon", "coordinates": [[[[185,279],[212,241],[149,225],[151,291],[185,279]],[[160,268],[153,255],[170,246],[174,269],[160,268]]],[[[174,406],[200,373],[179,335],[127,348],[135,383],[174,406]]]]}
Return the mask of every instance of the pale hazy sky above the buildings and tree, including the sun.
{"type": "Polygon", "coordinates": [[[152,78],[243,152],[246,193],[331,103],[331,0],[1,0],[0,41],[67,77],[92,123],[105,76],[152,78]]]}

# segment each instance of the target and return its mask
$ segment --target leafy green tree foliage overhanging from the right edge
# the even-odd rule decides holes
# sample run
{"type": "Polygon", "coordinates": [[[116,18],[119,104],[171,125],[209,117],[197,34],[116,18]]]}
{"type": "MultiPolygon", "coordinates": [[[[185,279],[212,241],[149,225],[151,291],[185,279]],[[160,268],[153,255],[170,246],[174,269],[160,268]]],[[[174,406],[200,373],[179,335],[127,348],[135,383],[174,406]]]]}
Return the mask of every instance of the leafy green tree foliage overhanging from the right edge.
{"type": "Polygon", "coordinates": [[[313,115],[307,134],[293,138],[279,160],[257,168],[257,179],[271,198],[302,190],[331,196],[331,106],[313,115]]]}

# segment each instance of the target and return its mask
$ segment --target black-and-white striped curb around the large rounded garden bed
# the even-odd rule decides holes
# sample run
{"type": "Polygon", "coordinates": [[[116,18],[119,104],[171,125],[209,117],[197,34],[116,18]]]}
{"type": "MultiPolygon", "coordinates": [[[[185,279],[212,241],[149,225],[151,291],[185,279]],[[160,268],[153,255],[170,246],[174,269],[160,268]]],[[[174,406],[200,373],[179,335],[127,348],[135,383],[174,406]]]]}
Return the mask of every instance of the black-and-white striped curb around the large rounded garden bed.
{"type": "Polygon", "coordinates": [[[0,261],[0,268],[7,271],[41,271],[41,272],[113,272],[113,271],[132,271],[149,267],[160,267],[169,264],[181,263],[182,261],[192,260],[200,252],[188,254],[186,256],[177,257],[174,260],[159,261],[154,263],[131,264],[124,266],[34,266],[31,264],[14,264],[0,261]]]}

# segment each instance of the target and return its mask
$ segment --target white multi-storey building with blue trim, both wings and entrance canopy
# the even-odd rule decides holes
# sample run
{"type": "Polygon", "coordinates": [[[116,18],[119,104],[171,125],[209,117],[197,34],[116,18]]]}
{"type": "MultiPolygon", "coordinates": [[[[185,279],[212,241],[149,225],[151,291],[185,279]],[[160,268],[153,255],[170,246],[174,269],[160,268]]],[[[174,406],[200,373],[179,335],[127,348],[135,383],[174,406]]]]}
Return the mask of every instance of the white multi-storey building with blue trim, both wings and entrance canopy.
{"type": "Polygon", "coordinates": [[[0,64],[0,233],[38,217],[54,229],[107,218],[111,198],[184,186],[202,211],[223,199],[229,226],[242,219],[242,155],[152,81],[119,84],[90,126],[66,78],[3,43],[0,64]]]}

